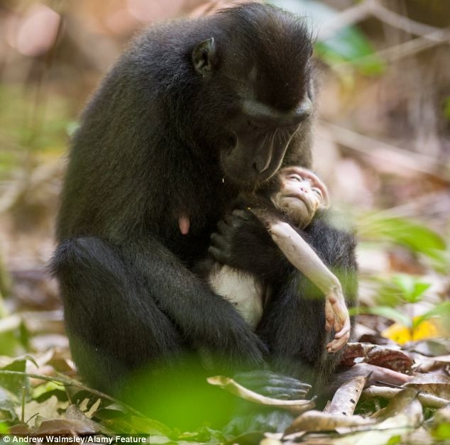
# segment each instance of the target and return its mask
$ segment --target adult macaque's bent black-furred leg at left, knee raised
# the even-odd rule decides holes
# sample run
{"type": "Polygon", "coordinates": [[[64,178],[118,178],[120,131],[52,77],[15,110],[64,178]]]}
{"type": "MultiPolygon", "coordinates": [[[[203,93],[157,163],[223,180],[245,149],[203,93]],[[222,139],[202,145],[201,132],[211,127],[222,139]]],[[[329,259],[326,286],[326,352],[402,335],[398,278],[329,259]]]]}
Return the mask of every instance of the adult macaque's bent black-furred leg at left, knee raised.
{"type": "Polygon", "coordinates": [[[111,392],[131,370],[182,351],[182,337],[142,279],[104,241],[67,239],[51,267],[75,363],[94,387],[111,392]]]}

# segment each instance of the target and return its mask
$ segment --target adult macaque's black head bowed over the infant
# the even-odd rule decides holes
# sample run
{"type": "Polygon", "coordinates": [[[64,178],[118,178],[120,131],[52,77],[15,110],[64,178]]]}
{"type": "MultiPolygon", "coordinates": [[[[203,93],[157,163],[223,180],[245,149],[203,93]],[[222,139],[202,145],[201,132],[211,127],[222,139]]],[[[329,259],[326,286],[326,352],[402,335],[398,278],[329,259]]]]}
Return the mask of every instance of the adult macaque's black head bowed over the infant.
{"type": "Polygon", "coordinates": [[[216,31],[191,55],[199,82],[193,108],[204,116],[194,132],[218,150],[224,177],[254,187],[287,158],[309,165],[304,141],[313,114],[314,69],[304,23],[261,4],[225,9],[210,20],[216,31]],[[300,158],[291,156],[293,145],[303,147],[300,158]]]}

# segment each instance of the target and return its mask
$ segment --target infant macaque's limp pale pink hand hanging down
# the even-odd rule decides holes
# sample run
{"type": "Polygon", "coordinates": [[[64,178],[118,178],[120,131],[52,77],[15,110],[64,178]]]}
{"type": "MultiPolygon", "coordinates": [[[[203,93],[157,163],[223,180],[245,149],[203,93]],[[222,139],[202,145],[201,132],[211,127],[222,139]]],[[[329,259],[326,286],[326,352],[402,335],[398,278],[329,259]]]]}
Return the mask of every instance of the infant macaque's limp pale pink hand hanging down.
{"type": "Polygon", "coordinates": [[[341,290],[332,290],[325,297],[325,330],[334,328],[334,339],[326,345],[326,351],[339,351],[350,338],[350,316],[341,290]]]}

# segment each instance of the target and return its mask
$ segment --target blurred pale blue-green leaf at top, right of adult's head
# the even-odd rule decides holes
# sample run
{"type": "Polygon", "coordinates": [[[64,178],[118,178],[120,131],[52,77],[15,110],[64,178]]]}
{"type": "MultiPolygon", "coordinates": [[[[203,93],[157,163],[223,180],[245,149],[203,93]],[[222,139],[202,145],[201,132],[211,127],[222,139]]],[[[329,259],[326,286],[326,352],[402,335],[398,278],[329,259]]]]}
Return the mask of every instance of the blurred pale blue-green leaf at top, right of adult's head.
{"type": "MultiPolygon", "coordinates": [[[[309,18],[314,33],[326,31],[324,23],[332,21],[339,11],[312,0],[271,0],[268,3],[309,18]]],[[[346,26],[315,45],[317,55],[329,65],[350,62],[365,75],[378,75],[384,70],[383,60],[375,54],[366,36],[355,26],[346,26]]]]}

